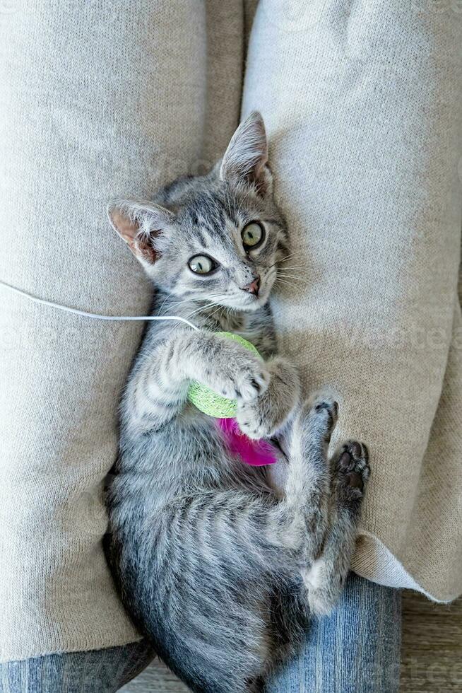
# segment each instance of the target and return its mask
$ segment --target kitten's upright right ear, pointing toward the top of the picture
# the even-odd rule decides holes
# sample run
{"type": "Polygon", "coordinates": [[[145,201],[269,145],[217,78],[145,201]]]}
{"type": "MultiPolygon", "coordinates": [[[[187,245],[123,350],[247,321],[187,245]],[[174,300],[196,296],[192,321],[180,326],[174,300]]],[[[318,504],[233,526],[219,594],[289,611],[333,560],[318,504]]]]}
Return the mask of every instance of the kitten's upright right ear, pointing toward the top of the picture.
{"type": "Polygon", "coordinates": [[[220,179],[253,185],[261,195],[269,192],[268,142],[265,124],[258,111],[252,111],[232,136],[221,163],[220,179]]]}

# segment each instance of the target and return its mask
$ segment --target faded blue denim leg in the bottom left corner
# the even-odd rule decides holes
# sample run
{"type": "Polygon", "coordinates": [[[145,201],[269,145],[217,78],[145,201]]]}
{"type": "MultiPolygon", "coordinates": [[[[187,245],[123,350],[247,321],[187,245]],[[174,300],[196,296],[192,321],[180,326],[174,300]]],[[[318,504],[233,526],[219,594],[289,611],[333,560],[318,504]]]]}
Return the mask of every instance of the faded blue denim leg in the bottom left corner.
{"type": "Polygon", "coordinates": [[[146,641],[0,664],[0,693],[115,693],[154,656],[146,641]]]}

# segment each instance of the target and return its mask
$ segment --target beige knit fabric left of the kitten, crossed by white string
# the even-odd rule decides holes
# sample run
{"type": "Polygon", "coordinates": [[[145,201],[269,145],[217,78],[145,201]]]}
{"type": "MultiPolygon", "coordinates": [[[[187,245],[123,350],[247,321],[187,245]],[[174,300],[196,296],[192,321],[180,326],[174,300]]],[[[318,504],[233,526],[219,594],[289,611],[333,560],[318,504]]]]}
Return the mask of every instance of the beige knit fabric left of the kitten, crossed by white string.
{"type": "MultiPolygon", "coordinates": [[[[218,157],[239,120],[242,44],[240,0],[0,2],[1,279],[146,313],[105,206],[218,157]]],[[[101,488],[142,324],[1,287],[0,303],[0,660],[133,641],[102,554],[101,488]]]]}

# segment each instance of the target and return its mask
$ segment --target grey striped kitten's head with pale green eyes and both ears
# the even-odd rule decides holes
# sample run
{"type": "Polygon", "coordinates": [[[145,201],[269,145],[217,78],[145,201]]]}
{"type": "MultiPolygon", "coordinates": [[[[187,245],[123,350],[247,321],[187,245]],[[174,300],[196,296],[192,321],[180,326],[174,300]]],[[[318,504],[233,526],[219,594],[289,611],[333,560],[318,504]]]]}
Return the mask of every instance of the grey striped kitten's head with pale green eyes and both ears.
{"type": "Polygon", "coordinates": [[[119,200],[108,214],[164,291],[256,310],[268,301],[287,248],[261,115],[253,112],[239,125],[208,175],[179,178],[155,202],[119,200]]]}

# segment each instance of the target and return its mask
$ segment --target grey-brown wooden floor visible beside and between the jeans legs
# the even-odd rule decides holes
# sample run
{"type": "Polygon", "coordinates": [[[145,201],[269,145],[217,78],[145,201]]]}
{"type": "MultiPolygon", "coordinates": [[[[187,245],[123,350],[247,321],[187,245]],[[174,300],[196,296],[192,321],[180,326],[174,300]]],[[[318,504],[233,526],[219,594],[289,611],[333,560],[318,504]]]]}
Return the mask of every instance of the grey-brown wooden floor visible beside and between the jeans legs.
{"type": "MultiPolygon", "coordinates": [[[[186,693],[187,689],[156,663],[122,691],[186,693]]],[[[446,606],[405,593],[401,693],[456,692],[462,693],[462,599],[446,606]]]]}

